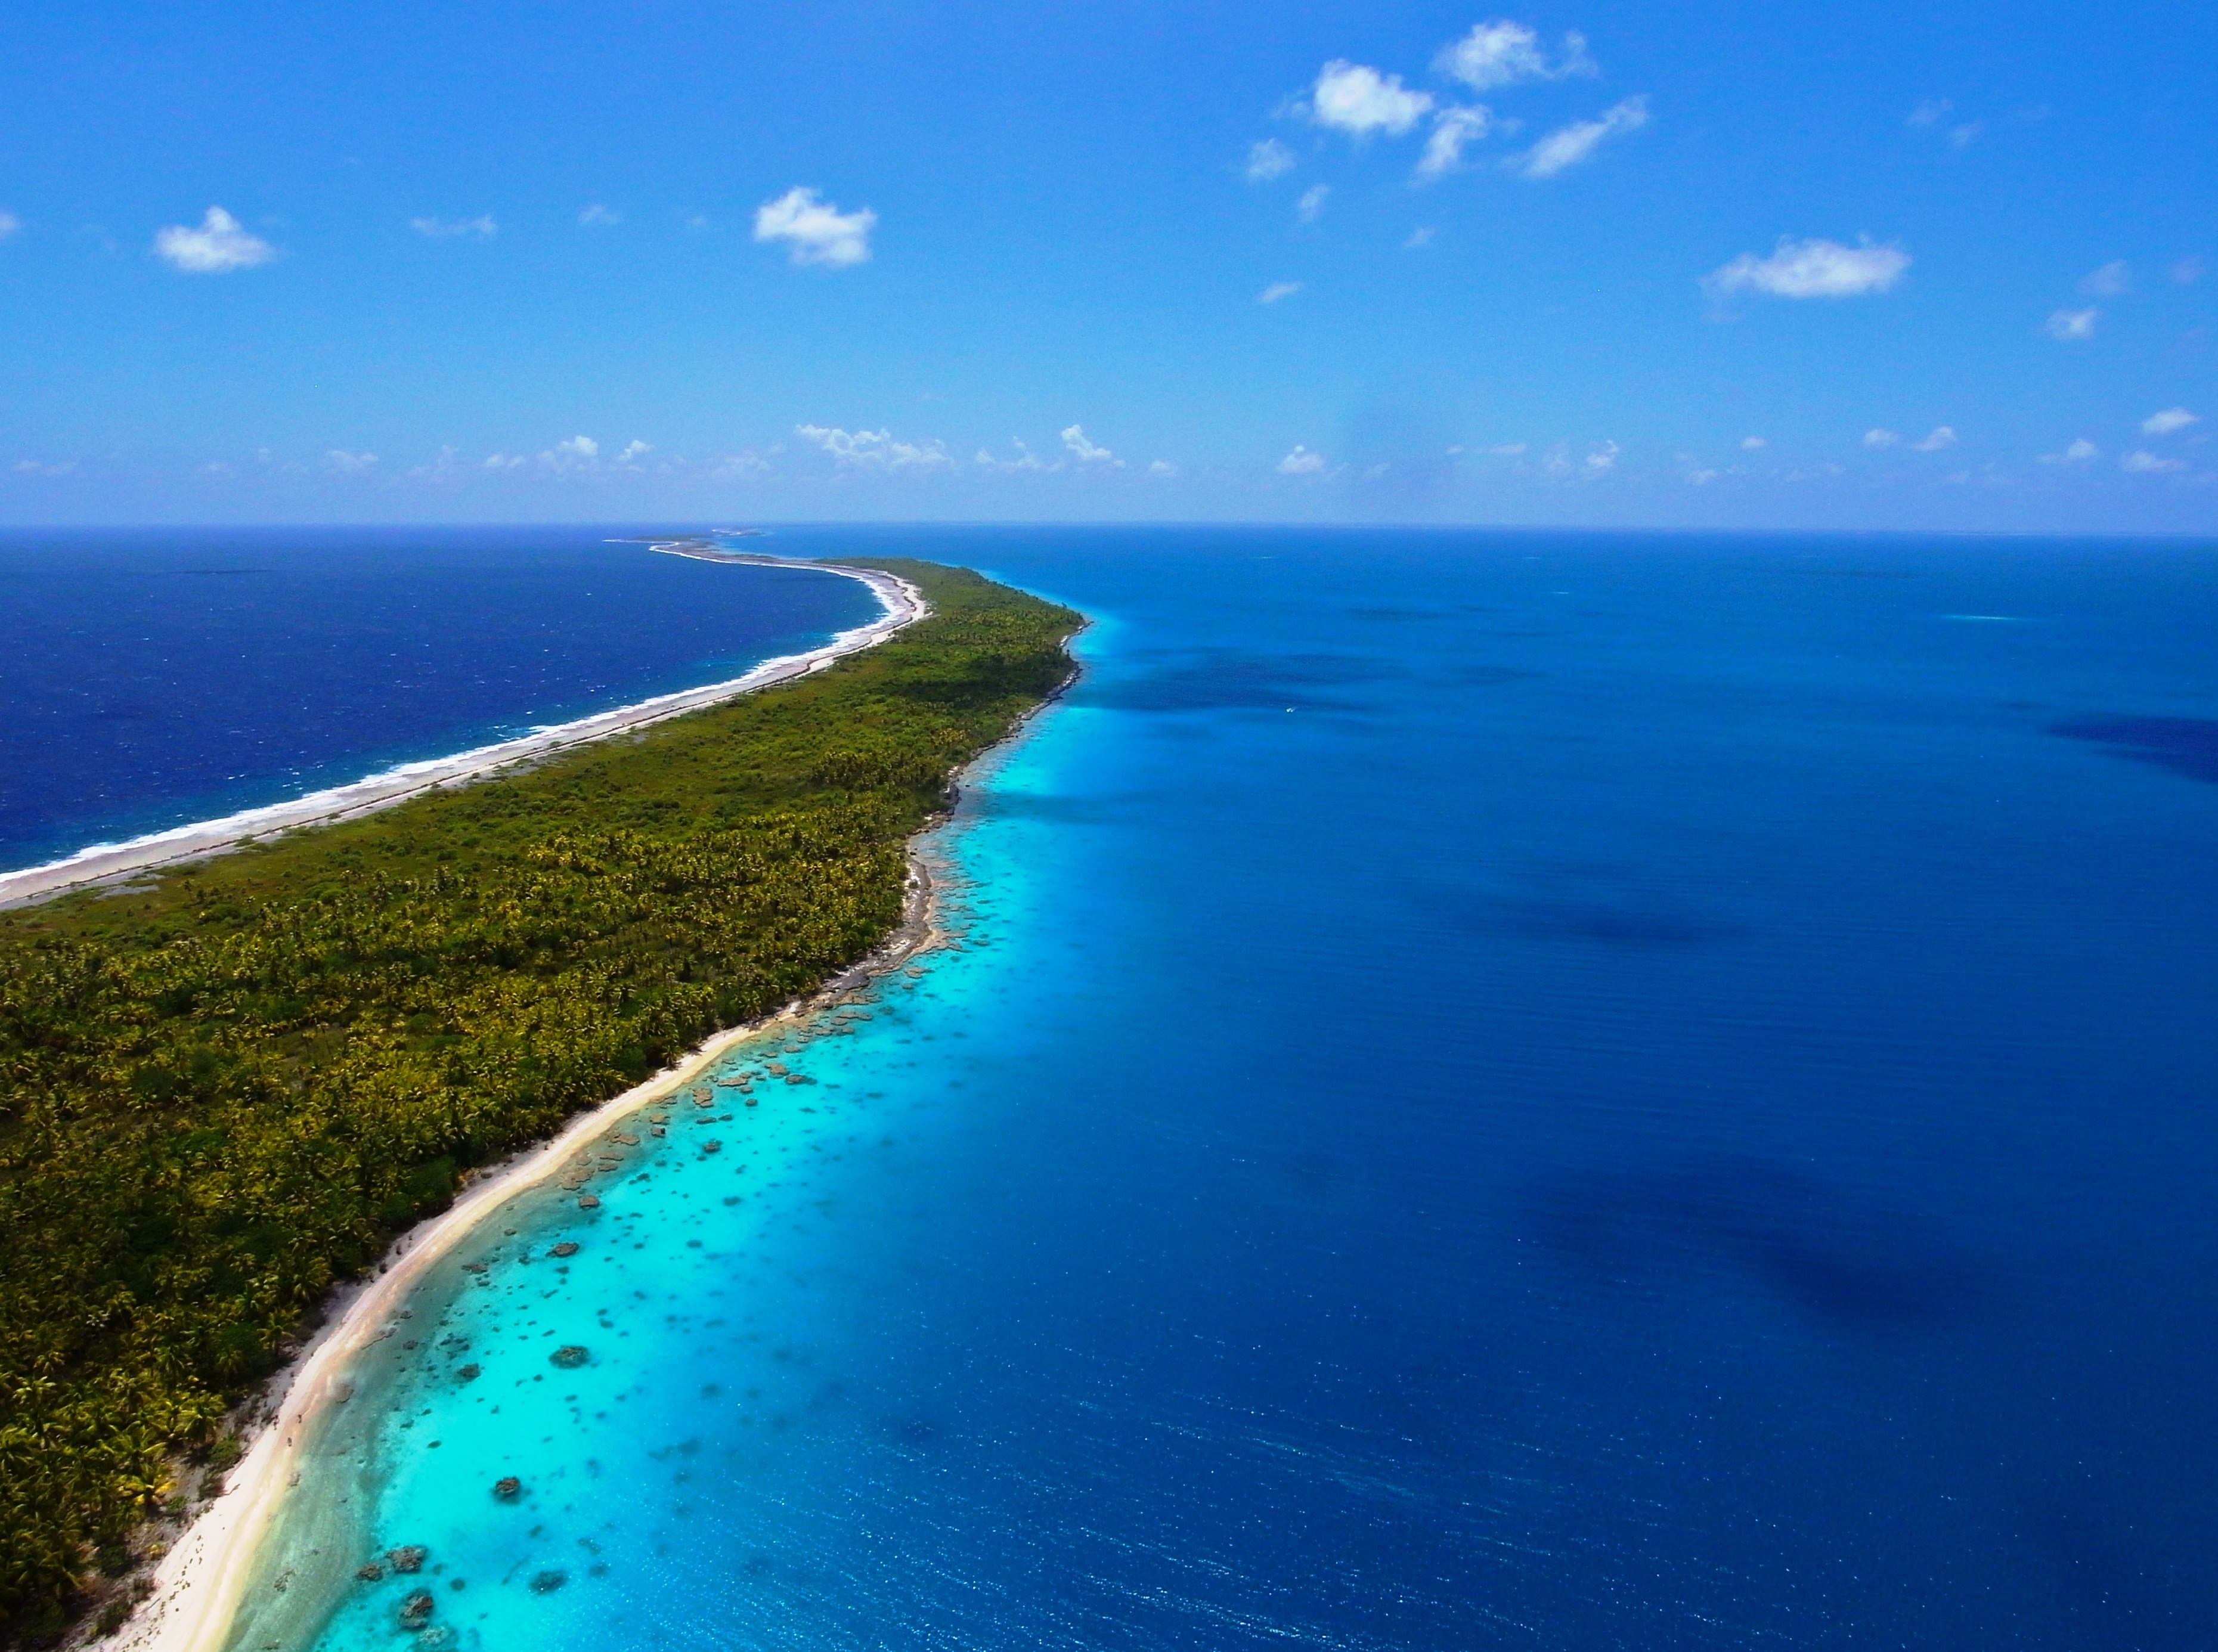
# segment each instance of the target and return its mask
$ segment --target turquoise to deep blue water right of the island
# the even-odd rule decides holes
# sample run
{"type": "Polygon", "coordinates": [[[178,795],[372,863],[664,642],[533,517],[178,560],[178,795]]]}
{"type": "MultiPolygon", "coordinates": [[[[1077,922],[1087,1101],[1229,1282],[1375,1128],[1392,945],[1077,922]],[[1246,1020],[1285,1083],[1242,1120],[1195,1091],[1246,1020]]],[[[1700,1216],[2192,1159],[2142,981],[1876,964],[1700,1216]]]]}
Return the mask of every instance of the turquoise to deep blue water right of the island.
{"type": "Polygon", "coordinates": [[[240,1648],[2218,1643],[2218,545],[770,543],[1093,616],[960,940],[486,1224],[240,1648]]]}

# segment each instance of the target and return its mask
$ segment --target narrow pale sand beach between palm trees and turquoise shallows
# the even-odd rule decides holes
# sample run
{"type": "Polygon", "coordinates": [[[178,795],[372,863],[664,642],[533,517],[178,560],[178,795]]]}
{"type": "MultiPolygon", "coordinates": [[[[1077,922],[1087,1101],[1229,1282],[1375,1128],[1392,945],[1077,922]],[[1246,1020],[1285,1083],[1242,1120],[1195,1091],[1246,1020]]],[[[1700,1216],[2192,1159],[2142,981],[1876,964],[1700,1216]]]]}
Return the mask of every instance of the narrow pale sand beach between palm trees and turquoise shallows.
{"type": "Polygon", "coordinates": [[[863,962],[841,971],[807,998],[774,1016],[714,1033],[685,1060],[665,1067],[610,1102],[579,1113],[550,1142],[526,1149],[515,1162],[481,1173],[444,1215],[404,1233],[386,1253],[384,1273],[350,1286],[330,1304],[324,1330],[302,1350],[268,1390],[275,1417],[257,1432],[240,1466],[226,1477],[224,1495],[208,1503],[153,1570],[155,1590],[118,1632],[122,1652],[222,1652],[237,1619],[240,1601],[255,1572],[255,1550],[268,1532],[284,1495],[299,1481],[302,1446],[317,1413],[344,1399],[346,1370],[357,1353],[388,1335],[397,1311],[424,1275],[461,1244],[479,1222],[519,1193],[554,1180],[594,1135],[650,1107],[716,1067],[734,1047],[783,1029],[816,1009],[865,987],[874,976],[901,965],[932,942],[934,880],[923,858],[909,854],[909,883],[901,927],[863,962]]]}

